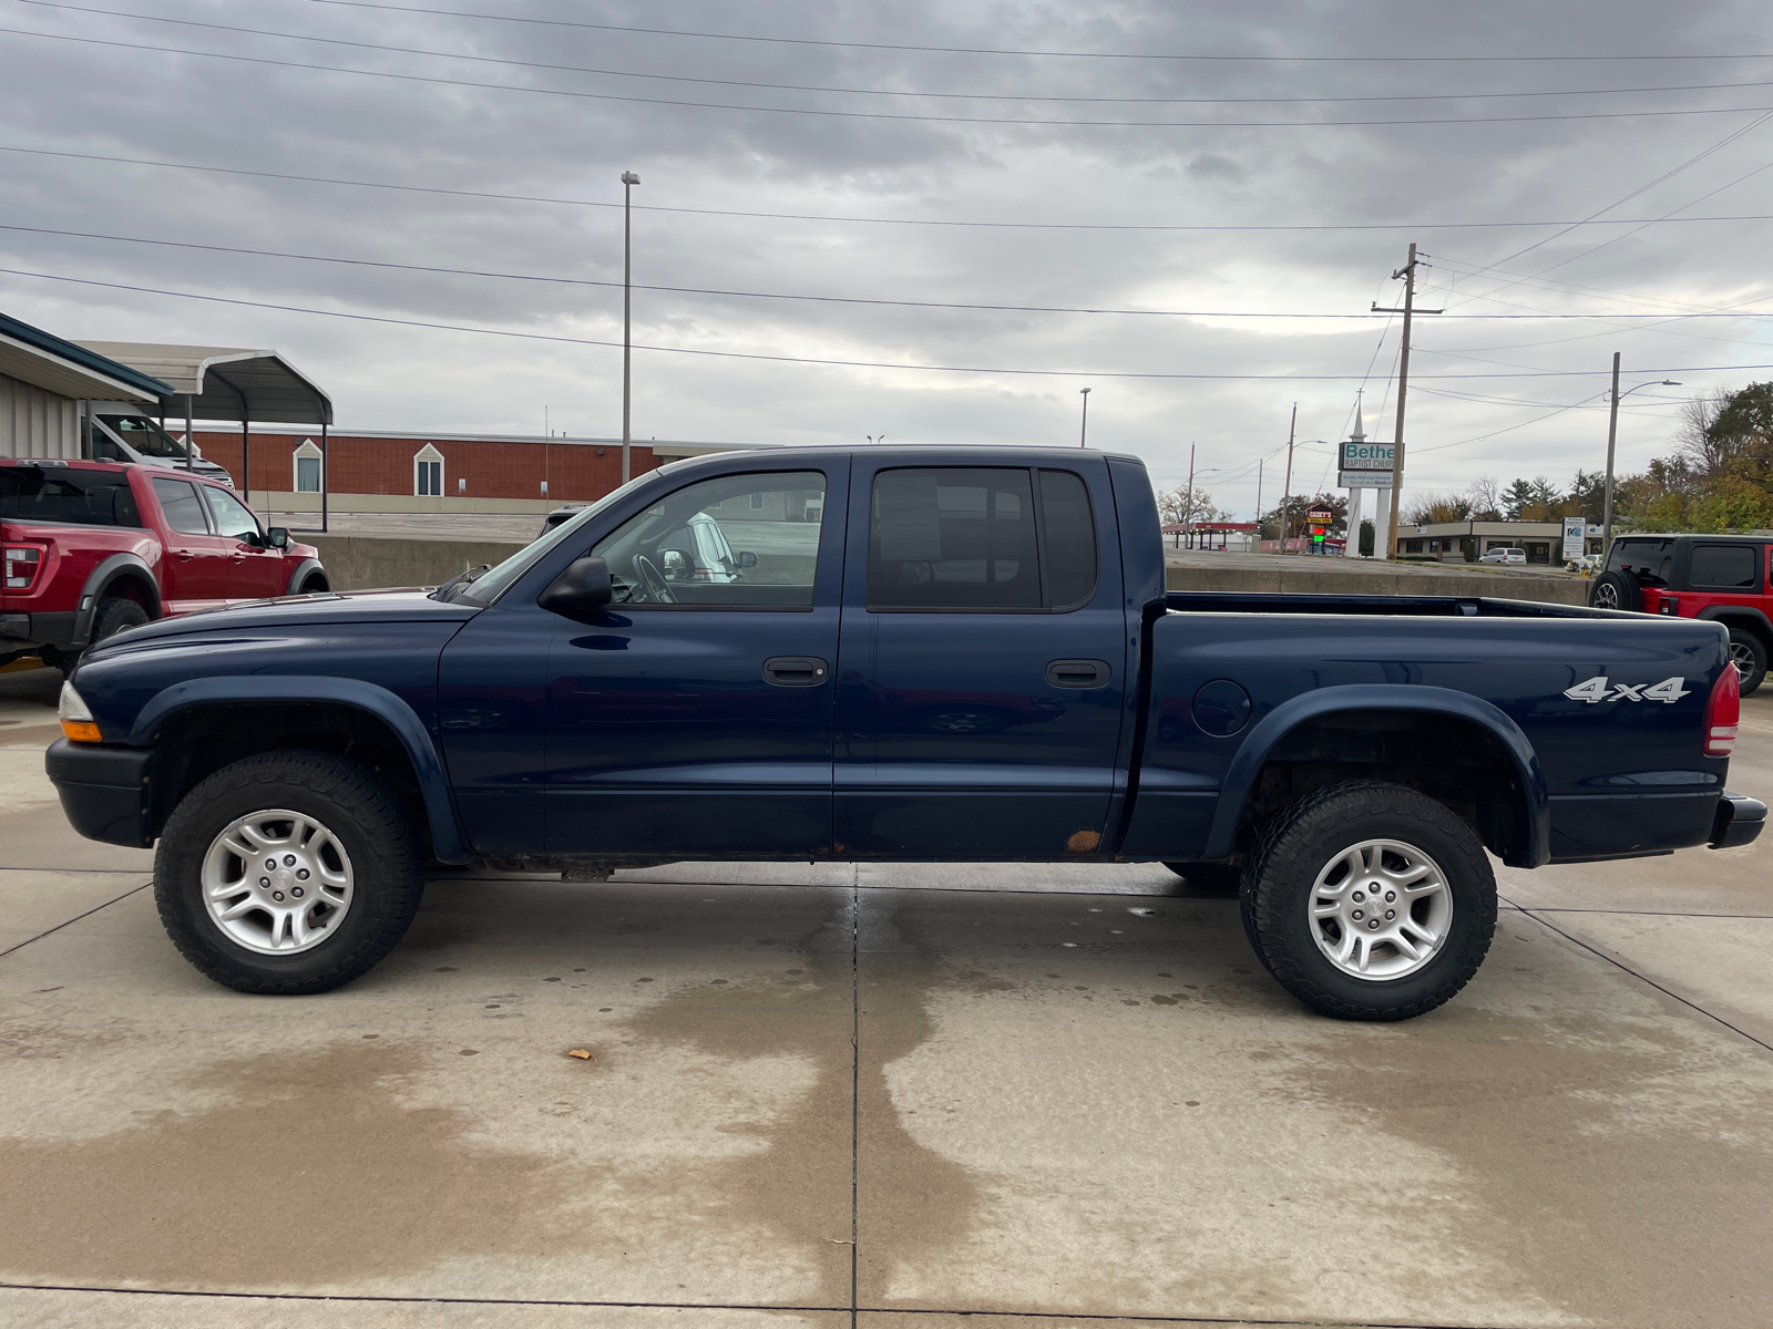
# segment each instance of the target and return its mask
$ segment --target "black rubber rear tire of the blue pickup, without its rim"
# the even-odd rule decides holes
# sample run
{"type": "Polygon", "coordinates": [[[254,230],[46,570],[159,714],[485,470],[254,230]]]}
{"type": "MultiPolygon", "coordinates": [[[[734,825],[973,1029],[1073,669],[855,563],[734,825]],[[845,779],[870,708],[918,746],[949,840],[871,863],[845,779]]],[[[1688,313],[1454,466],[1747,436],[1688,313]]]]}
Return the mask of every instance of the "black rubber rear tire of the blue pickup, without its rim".
{"type": "MultiPolygon", "coordinates": [[[[1402,785],[1355,780],[1307,794],[1264,828],[1243,891],[1243,927],[1262,966],[1319,1015],[1402,1021],[1452,998],[1484,962],[1496,930],[1496,879],[1477,835],[1443,804],[1402,785]],[[1312,914],[1319,874],[1369,840],[1424,852],[1440,868],[1450,907],[1438,950],[1397,978],[1344,971],[1314,936],[1326,927],[1312,914]]],[[[1410,960],[1392,948],[1392,962],[1410,960]]]]}

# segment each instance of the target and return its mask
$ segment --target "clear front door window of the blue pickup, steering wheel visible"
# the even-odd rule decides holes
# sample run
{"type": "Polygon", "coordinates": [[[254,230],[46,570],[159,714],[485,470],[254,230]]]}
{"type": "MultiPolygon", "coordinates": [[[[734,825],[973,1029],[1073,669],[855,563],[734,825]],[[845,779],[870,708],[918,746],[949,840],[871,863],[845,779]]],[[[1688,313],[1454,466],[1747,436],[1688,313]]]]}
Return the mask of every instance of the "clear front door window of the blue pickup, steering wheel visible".
{"type": "Polygon", "coordinates": [[[805,610],[823,516],[819,471],[723,475],[667,494],[590,553],[617,604],[805,610]]]}

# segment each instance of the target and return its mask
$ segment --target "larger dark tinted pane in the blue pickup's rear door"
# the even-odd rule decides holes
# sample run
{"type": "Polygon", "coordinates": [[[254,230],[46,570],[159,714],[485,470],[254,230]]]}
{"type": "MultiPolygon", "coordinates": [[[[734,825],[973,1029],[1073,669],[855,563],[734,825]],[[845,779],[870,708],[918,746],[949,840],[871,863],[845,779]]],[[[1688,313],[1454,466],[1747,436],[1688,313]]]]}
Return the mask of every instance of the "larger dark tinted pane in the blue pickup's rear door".
{"type": "Polygon", "coordinates": [[[869,505],[869,608],[1039,610],[1028,471],[881,471],[869,505]]]}

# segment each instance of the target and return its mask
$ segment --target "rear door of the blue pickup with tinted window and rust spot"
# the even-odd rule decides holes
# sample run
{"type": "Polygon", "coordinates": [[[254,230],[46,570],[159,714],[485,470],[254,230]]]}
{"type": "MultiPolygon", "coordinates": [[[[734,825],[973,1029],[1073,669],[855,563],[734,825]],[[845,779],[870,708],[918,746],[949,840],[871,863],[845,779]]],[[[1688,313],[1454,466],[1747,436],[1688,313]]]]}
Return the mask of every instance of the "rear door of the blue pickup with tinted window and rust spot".
{"type": "Polygon", "coordinates": [[[1094,852],[1128,679],[1106,462],[858,459],[849,503],[839,851],[1094,852]]]}

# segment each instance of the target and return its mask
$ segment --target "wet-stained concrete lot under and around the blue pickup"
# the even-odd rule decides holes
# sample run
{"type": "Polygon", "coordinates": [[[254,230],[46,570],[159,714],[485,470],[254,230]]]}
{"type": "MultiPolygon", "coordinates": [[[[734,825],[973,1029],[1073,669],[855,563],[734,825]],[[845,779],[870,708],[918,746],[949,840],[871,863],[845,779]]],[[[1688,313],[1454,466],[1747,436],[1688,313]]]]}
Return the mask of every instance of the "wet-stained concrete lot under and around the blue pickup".
{"type": "Polygon", "coordinates": [[[246,998],[67,829],[55,677],[0,679],[0,1322],[1768,1322],[1769,843],[1498,868],[1394,1026],[1161,867],[450,872],[246,998]]]}

